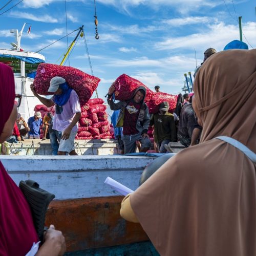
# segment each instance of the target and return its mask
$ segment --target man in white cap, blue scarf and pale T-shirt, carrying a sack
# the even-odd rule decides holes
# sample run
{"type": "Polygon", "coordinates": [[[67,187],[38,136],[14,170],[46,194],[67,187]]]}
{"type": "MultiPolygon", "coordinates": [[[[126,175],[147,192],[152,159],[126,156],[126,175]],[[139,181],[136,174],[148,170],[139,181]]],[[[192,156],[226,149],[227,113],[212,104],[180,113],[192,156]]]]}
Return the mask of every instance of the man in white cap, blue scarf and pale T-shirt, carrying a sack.
{"type": "Polygon", "coordinates": [[[81,108],[77,93],[68,86],[66,80],[55,76],[50,81],[48,92],[54,94],[51,99],[41,97],[35,92],[33,83],[30,86],[33,94],[48,108],[55,105],[53,129],[61,132],[58,155],[77,155],[75,152],[75,136],[78,131],[78,120],[81,108]]]}

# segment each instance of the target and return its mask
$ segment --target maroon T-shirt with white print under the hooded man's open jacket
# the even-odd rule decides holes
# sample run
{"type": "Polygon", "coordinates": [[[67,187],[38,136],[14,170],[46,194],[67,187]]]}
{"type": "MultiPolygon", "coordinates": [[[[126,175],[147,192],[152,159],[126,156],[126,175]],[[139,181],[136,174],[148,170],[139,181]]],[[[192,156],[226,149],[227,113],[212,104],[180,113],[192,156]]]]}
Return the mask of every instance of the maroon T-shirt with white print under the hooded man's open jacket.
{"type": "Polygon", "coordinates": [[[123,118],[123,134],[131,135],[137,134],[139,131],[136,129],[137,119],[140,113],[141,103],[135,103],[131,100],[124,109],[123,118]]]}

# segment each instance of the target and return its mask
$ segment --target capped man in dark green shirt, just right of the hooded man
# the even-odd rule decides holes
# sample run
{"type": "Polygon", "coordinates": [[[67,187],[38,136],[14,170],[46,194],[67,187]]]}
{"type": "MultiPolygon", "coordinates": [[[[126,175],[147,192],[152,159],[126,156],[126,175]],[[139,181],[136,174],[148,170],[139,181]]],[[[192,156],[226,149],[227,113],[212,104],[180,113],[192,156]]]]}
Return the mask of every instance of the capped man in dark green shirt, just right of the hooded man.
{"type": "Polygon", "coordinates": [[[150,125],[154,125],[154,139],[158,143],[159,153],[166,153],[164,144],[175,141],[176,137],[174,116],[168,113],[168,110],[169,103],[162,102],[158,113],[154,114],[150,120],[150,125]]]}

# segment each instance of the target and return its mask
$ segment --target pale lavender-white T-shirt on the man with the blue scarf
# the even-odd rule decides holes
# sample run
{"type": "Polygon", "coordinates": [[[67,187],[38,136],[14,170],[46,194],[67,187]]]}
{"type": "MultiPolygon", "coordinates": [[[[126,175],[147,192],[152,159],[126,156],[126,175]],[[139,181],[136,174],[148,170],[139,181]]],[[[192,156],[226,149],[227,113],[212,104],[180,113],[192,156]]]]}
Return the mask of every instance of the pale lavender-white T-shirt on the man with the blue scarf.
{"type": "MultiPolygon", "coordinates": [[[[81,112],[80,102],[77,93],[72,90],[69,100],[63,106],[55,105],[55,118],[53,129],[58,132],[63,132],[72,122],[74,115],[81,112]]],[[[78,130],[78,123],[72,128],[71,132],[78,130]]]]}

